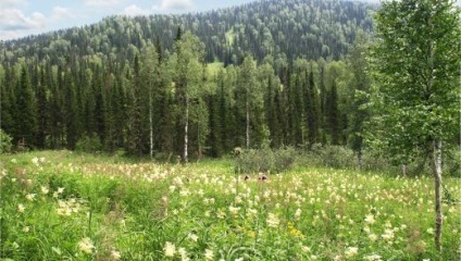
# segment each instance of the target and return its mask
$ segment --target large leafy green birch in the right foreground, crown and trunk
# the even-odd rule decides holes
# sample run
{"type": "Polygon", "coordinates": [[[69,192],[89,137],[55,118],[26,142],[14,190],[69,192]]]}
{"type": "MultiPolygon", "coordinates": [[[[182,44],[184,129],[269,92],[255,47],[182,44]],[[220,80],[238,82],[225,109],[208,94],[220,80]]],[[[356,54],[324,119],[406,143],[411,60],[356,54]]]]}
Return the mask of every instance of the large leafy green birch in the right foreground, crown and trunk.
{"type": "Polygon", "coordinates": [[[460,16],[454,1],[385,1],[376,13],[372,53],[374,97],[388,154],[400,163],[432,161],[435,246],[441,250],[441,174],[445,141],[459,134],[460,16]],[[395,158],[394,157],[394,158],[395,158]]]}

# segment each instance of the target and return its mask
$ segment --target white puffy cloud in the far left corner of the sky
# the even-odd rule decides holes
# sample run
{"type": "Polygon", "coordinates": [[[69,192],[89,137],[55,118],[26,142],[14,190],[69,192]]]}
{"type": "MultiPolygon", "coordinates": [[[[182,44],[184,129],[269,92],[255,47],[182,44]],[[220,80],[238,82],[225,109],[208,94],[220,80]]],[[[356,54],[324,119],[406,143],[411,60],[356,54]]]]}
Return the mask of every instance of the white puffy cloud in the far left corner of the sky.
{"type": "Polygon", "coordinates": [[[0,12],[0,29],[2,30],[26,30],[45,28],[47,18],[42,13],[34,12],[26,16],[18,9],[3,9],[0,12]]]}

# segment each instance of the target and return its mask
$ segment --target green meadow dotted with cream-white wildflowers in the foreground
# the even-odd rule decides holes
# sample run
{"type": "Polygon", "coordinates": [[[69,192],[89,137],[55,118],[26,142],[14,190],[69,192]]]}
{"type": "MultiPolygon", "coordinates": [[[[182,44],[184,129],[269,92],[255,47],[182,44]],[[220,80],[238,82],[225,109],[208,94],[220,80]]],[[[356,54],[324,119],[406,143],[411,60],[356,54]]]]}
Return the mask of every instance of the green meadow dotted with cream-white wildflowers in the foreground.
{"type": "MultiPolygon", "coordinates": [[[[155,164],[0,156],[0,260],[459,260],[460,204],[434,247],[431,176],[296,166],[260,181],[232,160],[155,164]]],[[[451,199],[459,178],[445,178],[451,199]]],[[[448,195],[447,195],[448,196],[448,195]]]]}

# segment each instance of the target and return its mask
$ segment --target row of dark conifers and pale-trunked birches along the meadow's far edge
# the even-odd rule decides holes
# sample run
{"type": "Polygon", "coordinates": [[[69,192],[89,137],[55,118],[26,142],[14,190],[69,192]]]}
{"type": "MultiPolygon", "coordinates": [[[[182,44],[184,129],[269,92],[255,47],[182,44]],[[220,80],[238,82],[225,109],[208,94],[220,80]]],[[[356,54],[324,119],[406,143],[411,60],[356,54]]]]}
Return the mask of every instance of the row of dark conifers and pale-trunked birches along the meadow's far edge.
{"type": "Polygon", "coordinates": [[[133,61],[70,57],[0,66],[2,128],[14,144],[132,154],[220,157],[235,147],[346,145],[353,73],[345,62],[247,55],[207,64],[179,29],[174,52],[149,42],[133,61]]]}

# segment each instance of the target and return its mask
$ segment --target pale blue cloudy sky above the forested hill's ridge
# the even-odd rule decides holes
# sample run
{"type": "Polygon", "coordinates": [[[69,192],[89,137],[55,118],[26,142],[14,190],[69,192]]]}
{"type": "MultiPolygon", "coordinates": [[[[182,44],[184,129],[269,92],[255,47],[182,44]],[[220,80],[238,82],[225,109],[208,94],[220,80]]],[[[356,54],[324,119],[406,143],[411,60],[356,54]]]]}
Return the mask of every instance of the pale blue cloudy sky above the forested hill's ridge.
{"type": "Polygon", "coordinates": [[[0,40],[92,24],[112,14],[201,12],[252,0],[0,0],[0,40]]]}

